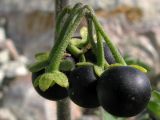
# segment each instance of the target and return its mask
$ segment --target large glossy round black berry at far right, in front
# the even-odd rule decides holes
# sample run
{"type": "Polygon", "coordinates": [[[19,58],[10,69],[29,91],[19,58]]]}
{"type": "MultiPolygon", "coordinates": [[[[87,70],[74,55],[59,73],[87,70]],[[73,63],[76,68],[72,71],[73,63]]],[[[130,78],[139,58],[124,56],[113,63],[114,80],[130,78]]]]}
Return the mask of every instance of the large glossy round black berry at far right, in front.
{"type": "Polygon", "coordinates": [[[130,117],[144,110],[150,100],[151,86],[144,73],[132,67],[119,66],[101,75],[97,94],[106,111],[115,116],[130,117]]]}

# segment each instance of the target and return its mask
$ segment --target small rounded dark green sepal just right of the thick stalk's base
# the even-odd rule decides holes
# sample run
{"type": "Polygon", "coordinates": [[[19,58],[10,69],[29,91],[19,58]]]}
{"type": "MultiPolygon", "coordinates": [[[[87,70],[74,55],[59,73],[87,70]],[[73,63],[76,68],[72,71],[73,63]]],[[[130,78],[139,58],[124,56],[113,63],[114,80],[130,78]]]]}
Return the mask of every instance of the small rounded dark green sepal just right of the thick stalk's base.
{"type": "Polygon", "coordinates": [[[71,71],[75,68],[75,64],[71,60],[62,60],[60,63],[61,71],[71,71]]]}

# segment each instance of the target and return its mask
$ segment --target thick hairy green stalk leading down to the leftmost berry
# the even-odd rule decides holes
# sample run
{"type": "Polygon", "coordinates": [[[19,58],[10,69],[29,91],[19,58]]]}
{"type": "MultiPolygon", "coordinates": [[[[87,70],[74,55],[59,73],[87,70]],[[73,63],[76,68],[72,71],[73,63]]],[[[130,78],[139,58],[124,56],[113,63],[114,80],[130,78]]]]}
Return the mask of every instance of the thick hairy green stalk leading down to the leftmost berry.
{"type": "Polygon", "coordinates": [[[63,53],[66,50],[69,40],[71,39],[71,36],[76,31],[76,28],[78,27],[82,17],[84,16],[84,10],[77,9],[75,12],[75,9],[73,8],[70,14],[64,24],[64,27],[58,36],[59,44],[54,46],[50,53],[50,64],[46,69],[46,72],[53,72],[59,70],[59,65],[61,58],[63,57],[63,53]],[[78,13],[78,16],[76,15],[78,13]]]}

